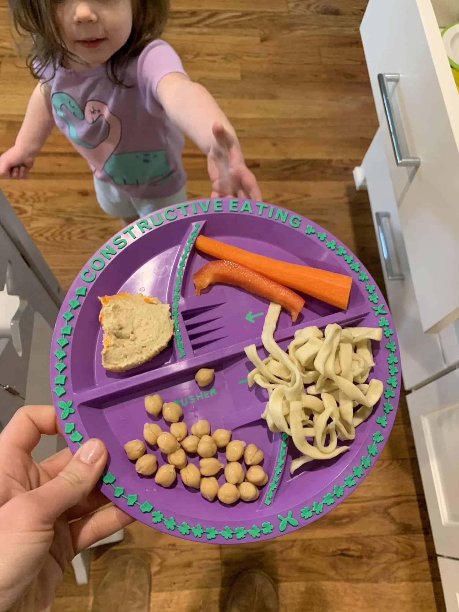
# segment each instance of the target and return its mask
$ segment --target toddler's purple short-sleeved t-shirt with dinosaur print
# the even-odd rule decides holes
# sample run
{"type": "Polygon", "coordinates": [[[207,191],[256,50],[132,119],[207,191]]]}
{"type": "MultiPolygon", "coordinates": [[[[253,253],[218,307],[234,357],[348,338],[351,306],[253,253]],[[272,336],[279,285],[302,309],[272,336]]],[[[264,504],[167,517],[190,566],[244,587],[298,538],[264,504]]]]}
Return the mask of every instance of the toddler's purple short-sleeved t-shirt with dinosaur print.
{"type": "Polygon", "coordinates": [[[118,86],[105,65],[82,70],[47,67],[54,121],[101,181],[136,198],[162,198],[184,187],[182,133],[157,97],[170,72],[186,74],[173,48],[154,40],[127,64],[118,86]]]}

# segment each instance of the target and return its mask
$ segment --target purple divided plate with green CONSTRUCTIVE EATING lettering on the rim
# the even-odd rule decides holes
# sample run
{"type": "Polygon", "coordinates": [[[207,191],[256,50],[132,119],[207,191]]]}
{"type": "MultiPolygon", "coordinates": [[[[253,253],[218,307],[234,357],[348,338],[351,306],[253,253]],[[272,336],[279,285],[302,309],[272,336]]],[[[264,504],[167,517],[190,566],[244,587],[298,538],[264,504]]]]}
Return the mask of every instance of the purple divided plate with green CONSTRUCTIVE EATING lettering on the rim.
{"type": "MultiPolygon", "coordinates": [[[[343,501],[364,479],[386,444],[400,394],[400,354],[389,308],[364,266],[334,236],[308,219],[255,201],[202,200],[155,212],[111,238],[86,263],[64,300],[54,329],[50,362],[54,405],[70,449],[91,437],[108,448],[100,488],[136,519],[177,537],[215,543],[268,539],[305,526],[343,501]],[[228,242],[291,263],[306,264],[353,277],[345,312],[305,296],[295,324],[282,312],[275,339],[286,348],[294,332],[329,323],[381,327],[373,342],[375,367],[370,379],[384,383],[383,397],[356,430],[350,450],[330,461],[312,461],[291,477],[297,457],[288,436],[273,434],[260,418],[266,392],[247,385],[252,364],[244,346],[255,343],[266,356],[261,330],[268,302],[242,289],[215,285],[196,297],[193,274],[209,261],[193,247],[196,236],[228,242]],[[125,373],[102,368],[102,330],[97,296],[120,291],[159,297],[171,305],[175,336],[168,348],[147,364],[125,373]],[[215,369],[215,380],[200,389],[200,367],[215,369]],[[269,482],[259,499],[225,506],[208,502],[199,491],[176,483],[165,489],[154,476],[139,476],[125,455],[125,442],[142,439],[143,424],[163,419],[144,409],[144,396],[159,393],[179,401],[190,430],[207,419],[212,430],[233,430],[233,439],[254,442],[264,452],[269,482]]],[[[339,443],[339,442],[338,442],[339,443]]],[[[157,447],[159,465],[166,457],[157,447]]],[[[225,463],[225,454],[218,452],[225,463]]],[[[198,465],[199,457],[190,461],[198,465]]],[[[224,477],[219,477],[224,482],[224,477]]]]}

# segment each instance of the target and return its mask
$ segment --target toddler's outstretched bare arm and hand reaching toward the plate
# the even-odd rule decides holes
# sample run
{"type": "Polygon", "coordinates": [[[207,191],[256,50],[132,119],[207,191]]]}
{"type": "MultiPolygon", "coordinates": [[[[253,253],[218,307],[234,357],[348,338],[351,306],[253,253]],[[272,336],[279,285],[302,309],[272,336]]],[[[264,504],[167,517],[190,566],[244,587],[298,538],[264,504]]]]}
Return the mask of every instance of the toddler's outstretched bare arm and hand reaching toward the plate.
{"type": "Polygon", "coordinates": [[[207,155],[211,197],[261,200],[236,132],[207,89],[181,73],[171,72],[160,80],[157,95],[171,121],[207,155]]]}

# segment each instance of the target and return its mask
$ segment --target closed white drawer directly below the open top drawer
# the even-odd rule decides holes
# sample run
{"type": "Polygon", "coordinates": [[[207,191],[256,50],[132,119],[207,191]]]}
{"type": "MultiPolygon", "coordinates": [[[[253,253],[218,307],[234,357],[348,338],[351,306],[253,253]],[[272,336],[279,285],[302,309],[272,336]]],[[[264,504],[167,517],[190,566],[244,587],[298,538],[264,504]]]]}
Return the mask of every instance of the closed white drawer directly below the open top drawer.
{"type": "Polygon", "coordinates": [[[439,335],[424,334],[422,331],[419,308],[417,307],[408,258],[403,244],[403,234],[401,233],[394,190],[390,182],[381,131],[381,128],[379,128],[376,132],[376,136],[365,155],[362,168],[367,181],[368,195],[370,196],[371,214],[375,224],[376,241],[378,242],[379,256],[383,266],[390,312],[392,318],[394,318],[400,344],[401,374],[405,388],[412,389],[441,374],[449,364],[444,361],[439,335]],[[394,241],[396,261],[394,261],[392,267],[394,272],[403,275],[403,280],[390,279],[387,273],[383,244],[376,219],[378,213],[389,213],[390,215],[389,231],[391,235],[386,236],[386,238],[392,238],[394,241]]]}

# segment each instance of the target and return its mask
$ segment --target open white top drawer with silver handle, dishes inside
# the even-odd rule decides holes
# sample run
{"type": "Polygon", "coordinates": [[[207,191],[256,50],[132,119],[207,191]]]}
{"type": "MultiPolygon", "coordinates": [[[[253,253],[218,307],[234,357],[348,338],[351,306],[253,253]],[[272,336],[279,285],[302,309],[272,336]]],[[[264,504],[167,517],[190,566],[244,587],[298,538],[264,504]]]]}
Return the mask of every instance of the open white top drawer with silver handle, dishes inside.
{"type": "MultiPolygon", "coordinates": [[[[458,20],[449,0],[435,4],[442,19],[458,20]]],[[[459,316],[459,94],[440,25],[430,0],[370,0],[360,28],[420,323],[431,333],[459,316]],[[386,105],[384,74],[398,75],[386,105]],[[401,152],[419,167],[395,163],[388,109],[401,152]]]]}

